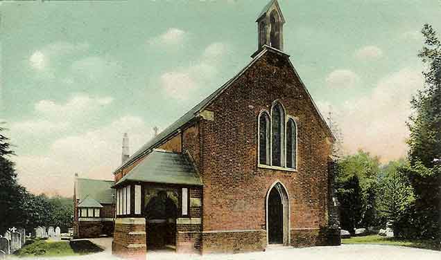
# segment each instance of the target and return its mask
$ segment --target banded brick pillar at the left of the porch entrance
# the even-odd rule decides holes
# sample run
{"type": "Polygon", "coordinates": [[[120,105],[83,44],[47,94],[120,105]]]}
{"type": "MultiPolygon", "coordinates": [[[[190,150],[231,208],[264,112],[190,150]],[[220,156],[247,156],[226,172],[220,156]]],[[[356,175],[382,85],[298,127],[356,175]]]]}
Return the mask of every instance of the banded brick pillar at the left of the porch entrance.
{"type": "Polygon", "coordinates": [[[112,254],[123,258],[146,259],[146,219],[116,218],[112,254]]]}

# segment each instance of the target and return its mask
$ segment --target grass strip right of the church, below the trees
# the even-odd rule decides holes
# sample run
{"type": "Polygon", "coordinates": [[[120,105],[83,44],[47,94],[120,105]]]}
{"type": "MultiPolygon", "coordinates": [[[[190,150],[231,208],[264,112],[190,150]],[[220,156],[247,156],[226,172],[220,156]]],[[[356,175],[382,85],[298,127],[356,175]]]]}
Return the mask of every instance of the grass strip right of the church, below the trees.
{"type": "Polygon", "coordinates": [[[401,245],[410,248],[424,248],[430,250],[440,250],[439,241],[416,240],[416,239],[397,239],[379,235],[354,236],[350,239],[342,239],[343,244],[371,244],[371,245],[401,245]]]}

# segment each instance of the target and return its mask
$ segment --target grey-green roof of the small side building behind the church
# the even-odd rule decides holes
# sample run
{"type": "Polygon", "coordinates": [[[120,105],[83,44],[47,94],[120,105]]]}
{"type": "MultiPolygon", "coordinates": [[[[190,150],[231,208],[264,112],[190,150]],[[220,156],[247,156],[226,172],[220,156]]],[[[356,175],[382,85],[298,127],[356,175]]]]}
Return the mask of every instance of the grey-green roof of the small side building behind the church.
{"type": "Polygon", "coordinates": [[[102,204],[114,203],[113,180],[94,180],[88,178],[76,178],[76,198],[83,201],[85,198],[93,198],[102,204]]]}

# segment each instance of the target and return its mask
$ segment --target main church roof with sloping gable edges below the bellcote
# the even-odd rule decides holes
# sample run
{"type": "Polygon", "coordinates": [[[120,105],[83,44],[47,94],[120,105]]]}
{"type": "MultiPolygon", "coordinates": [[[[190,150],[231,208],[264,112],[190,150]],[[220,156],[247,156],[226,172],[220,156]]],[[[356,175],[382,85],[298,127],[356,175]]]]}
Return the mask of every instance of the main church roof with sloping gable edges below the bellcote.
{"type": "MultiPolygon", "coordinates": [[[[277,1],[276,1],[276,3],[277,3],[277,1]]],[[[258,50],[256,53],[254,53],[252,55],[251,62],[247,66],[242,68],[242,70],[239,71],[239,73],[237,73],[234,77],[232,77],[231,80],[228,80],[225,84],[220,86],[219,89],[214,91],[214,93],[211,93],[211,95],[206,97],[205,100],[202,100],[199,104],[194,106],[193,109],[191,109],[190,111],[188,111],[187,113],[182,115],[181,118],[176,120],[173,124],[171,124],[169,127],[164,129],[164,131],[162,131],[157,136],[155,136],[155,138],[153,138],[152,140],[147,142],[145,145],[143,145],[138,151],[135,152],[135,154],[130,156],[130,158],[125,163],[123,163],[120,167],[118,167],[113,173],[116,174],[116,172],[123,169],[123,167],[126,167],[126,166],[132,164],[133,162],[135,162],[135,160],[137,160],[141,156],[144,156],[145,154],[150,153],[151,151],[153,151],[154,148],[157,147],[157,145],[160,145],[162,142],[164,142],[164,140],[167,140],[167,138],[173,136],[175,133],[177,133],[179,131],[179,129],[184,127],[184,125],[186,125],[189,122],[198,118],[198,114],[200,113],[200,111],[203,111],[211,103],[211,101],[213,101],[216,97],[218,97],[218,95],[220,95],[220,93],[223,93],[223,91],[225,91],[225,89],[227,89],[233,82],[235,82],[236,79],[238,79],[243,73],[245,73],[245,71],[247,71],[247,69],[250,68],[250,66],[252,66],[252,64],[257,62],[257,60],[259,60],[259,58],[262,57],[268,51],[273,51],[275,53],[279,53],[280,55],[285,55],[287,57],[287,59],[289,57],[289,55],[287,55],[286,53],[283,53],[281,50],[277,50],[276,48],[264,45],[261,48],[260,52],[258,50]]],[[[306,89],[306,86],[304,86],[302,79],[300,79],[299,75],[297,74],[297,71],[295,71],[295,68],[294,68],[293,64],[291,63],[291,60],[288,59],[288,61],[291,64],[291,67],[293,68],[295,75],[297,75],[297,77],[300,80],[300,83],[302,84],[306,93],[308,94],[308,97],[310,98],[311,102],[313,103],[315,110],[317,111],[318,115],[322,119],[322,122],[325,124],[325,127],[327,127],[332,138],[334,140],[336,140],[334,134],[332,133],[331,129],[329,129],[329,126],[327,125],[325,119],[323,118],[322,114],[318,110],[318,107],[315,105],[314,100],[312,99],[311,95],[309,94],[308,90],[306,89]]]]}

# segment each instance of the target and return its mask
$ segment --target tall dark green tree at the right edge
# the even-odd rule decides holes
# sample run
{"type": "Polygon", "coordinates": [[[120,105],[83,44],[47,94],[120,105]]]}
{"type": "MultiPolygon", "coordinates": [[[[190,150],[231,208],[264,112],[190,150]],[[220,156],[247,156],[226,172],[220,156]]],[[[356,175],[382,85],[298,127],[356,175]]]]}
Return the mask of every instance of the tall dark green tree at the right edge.
{"type": "Polygon", "coordinates": [[[415,193],[413,234],[440,239],[441,43],[428,24],[422,34],[425,41],[419,57],[426,68],[425,84],[411,101],[415,112],[408,122],[410,167],[406,173],[415,193]]]}

